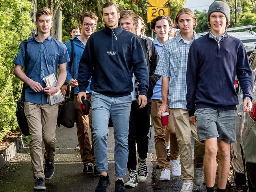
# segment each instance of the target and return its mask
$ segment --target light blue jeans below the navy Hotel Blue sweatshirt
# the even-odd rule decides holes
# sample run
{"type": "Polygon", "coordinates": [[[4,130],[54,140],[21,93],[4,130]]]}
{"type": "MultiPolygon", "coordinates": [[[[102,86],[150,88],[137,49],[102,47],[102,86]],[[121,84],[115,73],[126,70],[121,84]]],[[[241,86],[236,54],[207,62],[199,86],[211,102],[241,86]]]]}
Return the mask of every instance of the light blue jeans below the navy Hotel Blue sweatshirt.
{"type": "Polygon", "coordinates": [[[125,177],[128,160],[128,130],[132,96],[109,97],[93,91],[93,142],[99,172],[108,170],[108,120],[114,126],[116,177],[125,177]]]}

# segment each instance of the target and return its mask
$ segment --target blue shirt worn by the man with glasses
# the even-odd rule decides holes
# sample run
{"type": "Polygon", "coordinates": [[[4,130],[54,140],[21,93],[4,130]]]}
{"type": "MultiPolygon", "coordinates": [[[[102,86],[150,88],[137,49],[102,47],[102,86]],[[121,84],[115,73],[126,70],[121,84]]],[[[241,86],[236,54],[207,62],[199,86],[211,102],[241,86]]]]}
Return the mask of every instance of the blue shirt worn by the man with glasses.
{"type": "MultiPolygon", "coordinates": [[[[84,44],[82,41],[80,41],[77,37],[80,35],[75,35],[72,40],[74,42],[74,62],[75,62],[75,79],[77,79],[77,74],[78,74],[78,67],[79,67],[79,62],[83,54],[83,50],[85,48],[84,44]]],[[[70,79],[73,78],[73,62],[72,62],[72,47],[71,47],[71,42],[70,40],[65,43],[68,53],[69,53],[69,58],[70,62],[67,64],[67,78],[66,82],[69,84],[70,79]]],[[[91,78],[89,79],[89,85],[86,88],[87,93],[92,93],[92,90],[90,89],[91,86],[91,78]]],[[[75,87],[75,94],[78,94],[79,88],[75,87]]]]}

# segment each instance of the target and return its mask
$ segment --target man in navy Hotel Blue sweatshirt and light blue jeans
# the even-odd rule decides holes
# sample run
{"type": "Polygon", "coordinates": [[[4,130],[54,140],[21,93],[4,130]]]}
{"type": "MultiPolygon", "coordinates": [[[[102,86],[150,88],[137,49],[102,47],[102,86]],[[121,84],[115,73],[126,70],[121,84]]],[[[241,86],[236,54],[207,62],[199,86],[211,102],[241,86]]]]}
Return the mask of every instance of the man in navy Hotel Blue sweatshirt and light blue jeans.
{"type": "Polygon", "coordinates": [[[93,141],[96,169],[100,179],[95,192],[105,192],[110,185],[108,170],[108,120],[111,119],[115,136],[115,192],[124,192],[123,178],[128,160],[128,128],[133,90],[132,72],[139,81],[140,107],[147,104],[148,69],[137,37],[122,30],[120,13],[113,2],[102,7],[103,30],[93,33],[87,41],[78,69],[78,101],[87,97],[86,87],[91,80],[93,141]]]}

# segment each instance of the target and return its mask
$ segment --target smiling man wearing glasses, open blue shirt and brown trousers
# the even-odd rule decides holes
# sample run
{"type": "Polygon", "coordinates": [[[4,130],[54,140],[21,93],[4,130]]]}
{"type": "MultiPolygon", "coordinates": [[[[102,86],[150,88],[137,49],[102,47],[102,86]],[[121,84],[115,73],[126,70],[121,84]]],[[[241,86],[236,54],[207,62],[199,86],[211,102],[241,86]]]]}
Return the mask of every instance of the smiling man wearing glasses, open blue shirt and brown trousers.
{"type": "MultiPolygon", "coordinates": [[[[85,49],[85,44],[89,39],[90,35],[94,33],[96,25],[97,25],[98,17],[91,11],[85,12],[80,17],[80,28],[81,35],[75,35],[72,40],[66,42],[67,50],[70,57],[70,62],[67,64],[67,78],[66,82],[71,86],[75,87],[75,96],[74,96],[74,105],[76,107],[76,128],[77,128],[77,138],[78,144],[80,146],[80,155],[83,166],[84,174],[93,174],[99,175],[99,172],[96,170],[96,161],[93,149],[93,138],[92,146],[89,139],[89,128],[91,129],[91,133],[93,132],[92,126],[92,116],[91,109],[89,115],[83,115],[80,110],[80,103],[77,101],[77,94],[79,92],[79,88],[77,87],[77,74],[78,74],[78,66],[80,59],[83,54],[83,50],[85,49]],[[74,61],[72,61],[72,47],[71,41],[74,43],[74,61]],[[75,79],[73,79],[73,65],[75,65],[75,79]]],[[[91,81],[91,79],[89,79],[91,81]]],[[[86,88],[87,100],[91,102],[91,93],[90,83],[86,88]]]]}

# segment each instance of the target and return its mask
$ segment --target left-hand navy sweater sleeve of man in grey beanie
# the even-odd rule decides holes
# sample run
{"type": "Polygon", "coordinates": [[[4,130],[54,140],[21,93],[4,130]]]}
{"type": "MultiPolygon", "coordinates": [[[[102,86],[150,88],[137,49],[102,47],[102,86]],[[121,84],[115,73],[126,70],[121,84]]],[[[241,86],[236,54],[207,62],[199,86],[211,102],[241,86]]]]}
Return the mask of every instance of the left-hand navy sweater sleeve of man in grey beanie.
{"type": "Polygon", "coordinates": [[[197,69],[198,69],[198,53],[196,44],[192,43],[189,48],[187,59],[187,111],[189,116],[194,116],[195,113],[195,92],[197,87],[197,69]]]}

